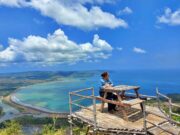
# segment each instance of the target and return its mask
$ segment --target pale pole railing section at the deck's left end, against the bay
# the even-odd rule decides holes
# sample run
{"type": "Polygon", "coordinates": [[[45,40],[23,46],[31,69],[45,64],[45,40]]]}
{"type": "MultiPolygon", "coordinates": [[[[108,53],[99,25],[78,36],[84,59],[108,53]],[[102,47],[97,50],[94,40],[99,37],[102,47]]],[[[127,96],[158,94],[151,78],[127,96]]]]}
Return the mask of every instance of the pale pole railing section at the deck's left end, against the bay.
{"type": "MultiPolygon", "coordinates": [[[[86,109],[86,110],[89,110],[89,111],[92,112],[92,114],[93,114],[93,121],[92,122],[93,122],[93,125],[94,125],[93,129],[94,129],[94,133],[95,133],[96,129],[97,129],[97,120],[96,120],[96,97],[95,97],[95,94],[94,94],[94,88],[91,87],[91,88],[80,89],[80,90],[76,90],[76,91],[73,91],[73,92],[69,92],[69,111],[70,111],[70,115],[72,115],[72,113],[73,113],[73,106],[79,107],[81,109],[86,109]],[[82,92],[85,92],[85,91],[90,91],[91,95],[90,96],[83,95],[82,92]],[[78,97],[78,99],[73,100],[74,96],[78,97]],[[92,100],[93,108],[90,108],[90,107],[79,104],[79,101],[82,101],[82,100],[85,100],[85,99],[92,100]]],[[[73,134],[73,132],[72,132],[72,128],[73,128],[72,127],[72,121],[70,121],[70,128],[71,128],[71,135],[72,135],[73,134]]]]}

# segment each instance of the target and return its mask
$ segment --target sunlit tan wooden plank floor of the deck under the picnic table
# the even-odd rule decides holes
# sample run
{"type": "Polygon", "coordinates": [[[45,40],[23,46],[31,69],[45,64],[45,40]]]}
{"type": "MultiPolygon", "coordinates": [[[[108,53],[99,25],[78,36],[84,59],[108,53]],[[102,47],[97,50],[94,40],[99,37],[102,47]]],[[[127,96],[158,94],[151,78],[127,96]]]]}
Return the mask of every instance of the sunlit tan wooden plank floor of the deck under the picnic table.
{"type": "MultiPolygon", "coordinates": [[[[107,104],[106,104],[107,105],[107,104]]],[[[127,108],[129,120],[126,121],[123,118],[123,113],[121,109],[114,113],[110,114],[107,111],[107,106],[105,106],[105,110],[103,113],[100,111],[100,104],[96,104],[96,119],[97,119],[97,127],[98,129],[108,130],[108,131],[119,131],[119,133],[135,133],[135,134],[144,134],[143,129],[143,114],[141,112],[140,106],[135,105],[131,108],[127,108]]],[[[89,108],[92,108],[90,106],[89,108]]],[[[163,116],[163,114],[159,111],[158,108],[146,106],[146,111],[148,112],[146,118],[149,121],[152,121],[154,124],[161,125],[167,122],[166,119],[155,116],[152,113],[156,113],[158,115],[163,116]]],[[[74,112],[72,115],[74,118],[78,118],[89,125],[93,125],[94,117],[93,112],[87,109],[81,109],[79,111],[74,112]]],[[[147,123],[148,130],[153,129],[153,125],[147,123]]],[[[178,135],[180,132],[180,128],[177,128],[174,132],[175,135],[178,135]],[[176,131],[177,130],[177,131],[176,131]]],[[[151,130],[153,133],[153,130],[151,130]]],[[[168,134],[167,134],[168,135],[168,134]]]]}

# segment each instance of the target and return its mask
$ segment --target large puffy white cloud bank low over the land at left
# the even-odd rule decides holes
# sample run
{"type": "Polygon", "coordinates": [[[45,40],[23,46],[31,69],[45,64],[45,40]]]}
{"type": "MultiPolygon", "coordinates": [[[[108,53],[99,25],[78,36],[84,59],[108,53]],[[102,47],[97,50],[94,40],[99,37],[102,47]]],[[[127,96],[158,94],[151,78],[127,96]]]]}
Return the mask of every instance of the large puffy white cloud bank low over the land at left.
{"type": "Polygon", "coordinates": [[[58,29],[48,34],[47,38],[34,35],[23,40],[10,38],[9,46],[0,51],[0,63],[75,64],[79,61],[107,59],[112,49],[98,35],[94,35],[92,43],[77,44],[58,29]]]}

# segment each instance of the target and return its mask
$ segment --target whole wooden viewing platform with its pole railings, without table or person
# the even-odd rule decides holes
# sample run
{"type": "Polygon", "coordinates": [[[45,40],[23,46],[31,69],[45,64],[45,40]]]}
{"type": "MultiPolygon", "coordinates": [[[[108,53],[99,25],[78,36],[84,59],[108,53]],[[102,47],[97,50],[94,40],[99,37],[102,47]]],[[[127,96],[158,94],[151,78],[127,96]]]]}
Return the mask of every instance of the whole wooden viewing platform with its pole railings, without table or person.
{"type": "MultiPolygon", "coordinates": [[[[157,91],[158,92],[158,91],[157,91]]],[[[159,96],[160,93],[157,93],[159,96]]],[[[138,99],[143,100],[144,102],[137,103],[133,106],[128,106],[127,103],[134,101],[133,98],[136,95],[132,93],[127,93],[125,97],[131,97],[131,99],[123,99],[124,102],[121,102],[122,106],[119,106],[119,110],[115,113],[109,113],[107,110],[107,104],[105,104],[102,111],[102,103],[98,102],[99,97],[94,96],[94,89],[87,88],[83,90],[78,90],[71,92],[69,95],[70,103],[70,115],[69,122],[71,129],[73,125],[75,126],[78,122],[87,125],[87,135],[95,135],[97,133],[101,134],[153,134],[153,135],[179,135],[180,134],[180,125],[179,122],[173,121],[170,116],[167,116],[166,113],[162,111],[159,107],[152,107],[145,105],[145,101],[149,98],[157,98],[153,96],[142,96],[139,95],[138,99]],[[91,91],[90,94],[87,91],[91,91]],[[85,92],[86,95],[83,95],[85,92]],[[87,93],[90,96],[87,96],[87,93]],[[130,96],[131,95],[131,96],[130,96]],[[78,99],[73,99],[73,97],[79,97],[78,99]],[[82,105],[82,100],[92,100],[92,104],[89,106],[82,105]],[[123,107],[123,103],[125,107],[123,107]],[[139,104],[143,104],[142,107],[139,104]],[[78,107],[76,111],[73,111],[73,106],[78,107]],[[126,116],[124,115],[126,112],[126,116]]],[[[168,97],[167,97],[168,98],[168,97]]],[[[101,100],[104,103],[108,101],[101,100]]],[[[115,102],[116,104],[116,102],[115,102]]],[[[118,103],[119,105],[119,103],[118,103]]],[[[171,106],[172,104],[170,104],[171,106]]],[[[173,104],[174,105],[174,104],[173,104]]],[[[176,105],[179,107],[178,105],[176,105]]],[[[173,113],[171,111],[171,113],[173,113]]],[[[173,113],[174,114],[174,113],[173,113]]],[[[179,114],[175,114],[179,115],[179,114]]],[[[72,134],[72,132],[71,132],[72,134]]]]}

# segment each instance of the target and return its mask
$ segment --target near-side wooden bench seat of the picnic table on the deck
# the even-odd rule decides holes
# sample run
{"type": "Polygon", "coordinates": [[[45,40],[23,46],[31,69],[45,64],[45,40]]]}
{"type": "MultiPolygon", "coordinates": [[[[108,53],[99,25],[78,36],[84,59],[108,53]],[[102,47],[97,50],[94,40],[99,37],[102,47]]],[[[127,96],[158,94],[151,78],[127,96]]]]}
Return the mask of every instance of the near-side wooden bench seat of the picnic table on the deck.
{"type": "MultiPolygon", "coordinates": [[[[142,104],[144,102],[144,100],[142,100],[140,98],[135,98],[135,99],[130,99],[130,100],[122,100],[121,102],[116,101],[116,100],[108,100],[108,99],[105,99],[105,98],[99,97],[99,96],[96,97],[96,99],[102,101],[103,103],[111,103],[111,104],[118,105],[122,108],[131,107],[131,106],[134,106],[136,104],[142,104]]],[[[101,112],[103,112],[103,108],[101,108],[101,112]]],[[[125,109],[122,109],[122,112],[123,112],[125,119],[128,120],[128,116],[127,116],[125,109]]]]}

